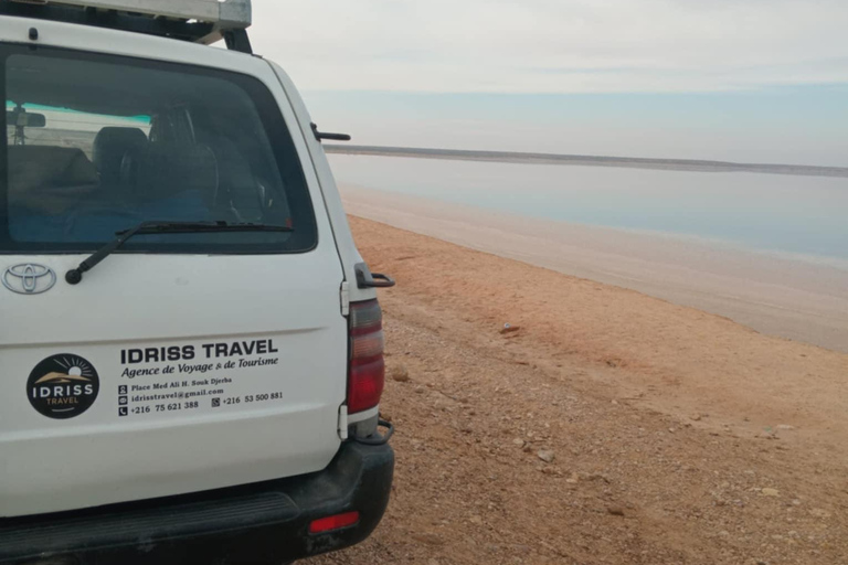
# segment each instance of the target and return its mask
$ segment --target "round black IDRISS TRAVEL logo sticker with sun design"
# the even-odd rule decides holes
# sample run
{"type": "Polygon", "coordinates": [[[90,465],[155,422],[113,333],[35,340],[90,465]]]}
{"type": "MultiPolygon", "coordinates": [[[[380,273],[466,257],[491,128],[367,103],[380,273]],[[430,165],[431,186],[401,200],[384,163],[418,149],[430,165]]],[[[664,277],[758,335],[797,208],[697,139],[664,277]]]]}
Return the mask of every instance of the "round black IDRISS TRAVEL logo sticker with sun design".
{"type": "Polygon", "coordinates": [[[99,390],[94,365],[72,353],[49,356],[35,365],[26,381],[32,407],[55,419],[74,418],[91,408],[99,390]]]}

